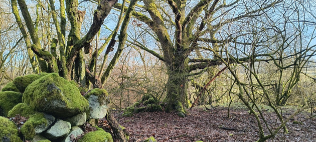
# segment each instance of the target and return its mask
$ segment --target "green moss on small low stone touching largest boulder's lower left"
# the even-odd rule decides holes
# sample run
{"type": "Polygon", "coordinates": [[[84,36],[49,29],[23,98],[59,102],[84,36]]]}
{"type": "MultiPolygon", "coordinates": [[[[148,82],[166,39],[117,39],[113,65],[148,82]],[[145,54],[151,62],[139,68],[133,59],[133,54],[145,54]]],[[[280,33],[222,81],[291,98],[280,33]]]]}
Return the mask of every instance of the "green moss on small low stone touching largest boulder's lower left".
{"type": "Polygon", "coordinates": [[[14,117],[17,114],[20,114],[24,117],[30,117],[34,113],[36,113],[36,111],[32,109],[30,105],[26,103],[19,103],[9,111],[8,117],[14,117]]]}

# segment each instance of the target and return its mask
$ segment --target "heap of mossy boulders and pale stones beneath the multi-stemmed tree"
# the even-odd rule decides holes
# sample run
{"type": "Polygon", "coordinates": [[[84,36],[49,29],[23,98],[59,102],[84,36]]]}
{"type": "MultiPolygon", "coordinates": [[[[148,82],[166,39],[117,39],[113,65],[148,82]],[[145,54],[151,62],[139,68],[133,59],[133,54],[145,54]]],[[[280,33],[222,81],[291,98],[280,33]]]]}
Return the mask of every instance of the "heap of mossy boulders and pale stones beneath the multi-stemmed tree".
{"type": "MultiPolygon", "coordinates": [[[[27,117],[23,137],[36,141],[113,141],[102,128],[87,134],[80,128],[87,118],[106,115],[109,99],[104,89],[93,89],[85,97],[76,84],[57,73],[15,78],[0,92],[0,115],[27,117]],[[98,139],[92,137],[98,137],[98,139]]],[[[22,141],[14,122],[0,116],[0,141],[22,141]]]]}

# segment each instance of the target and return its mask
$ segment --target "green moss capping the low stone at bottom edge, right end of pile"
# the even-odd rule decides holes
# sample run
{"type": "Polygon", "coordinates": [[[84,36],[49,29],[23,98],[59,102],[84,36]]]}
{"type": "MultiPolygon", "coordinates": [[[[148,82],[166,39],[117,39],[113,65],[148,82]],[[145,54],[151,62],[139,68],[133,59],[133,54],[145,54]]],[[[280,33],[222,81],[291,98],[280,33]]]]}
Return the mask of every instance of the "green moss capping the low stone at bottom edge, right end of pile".
{"type": "Polygon", "coordinates": [[[108,141],[113,142],[112,136],[110,133],[102,130],[91,131],[85,134],[78,142],[99,142],[99,141],[108,141]]]}

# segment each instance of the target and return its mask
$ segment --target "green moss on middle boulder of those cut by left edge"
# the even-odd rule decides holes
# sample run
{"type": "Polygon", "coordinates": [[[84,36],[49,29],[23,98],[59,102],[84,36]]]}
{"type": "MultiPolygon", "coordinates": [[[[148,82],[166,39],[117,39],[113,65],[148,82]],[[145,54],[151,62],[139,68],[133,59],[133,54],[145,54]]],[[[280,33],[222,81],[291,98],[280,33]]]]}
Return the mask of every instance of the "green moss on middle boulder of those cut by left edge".
{"type": "Polygon", "coordinates": [[[15,91],[0,91],[0,115],[7,116],[9,110],[22,102],[22,95],[15,91]]]}

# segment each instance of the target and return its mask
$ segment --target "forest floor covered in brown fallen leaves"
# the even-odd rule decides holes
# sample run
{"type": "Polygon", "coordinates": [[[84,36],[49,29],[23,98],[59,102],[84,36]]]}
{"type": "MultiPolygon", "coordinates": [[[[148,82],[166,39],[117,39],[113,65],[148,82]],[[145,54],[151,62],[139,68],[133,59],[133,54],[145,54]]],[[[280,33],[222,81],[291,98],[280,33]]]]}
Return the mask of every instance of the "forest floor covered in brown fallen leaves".
{"type": "MultiPolygon", "coordinates": [[[[188,115],[184,118],[164,111],[136,113],[131,117],[123,117],[121,112],[116,112],[114,116],[129,132],[129,141],[142,141],[149,136],[153,136],[157,141],[258,140],[256,119],[247,109],[231,108],[230,118],[227,117],[227,112],[227,107],[219,106],[206,110],[204,106],[200,106],[188,110],[188,115]]],[[[284,118],[291,112],[294,112],[293,108],[282,110],[284,118]]],[[[308,119],[310,116],[307,111],[298,113],[287,122],[289,133],[283,133],[281,129],[268,141],[316,141],[316,118],[308,119]]],[[[264,112],[264,117],[271,128],[280,124],[275,114],[269,110],[264,112]]],[[[265,134],[269,134],[266,127],[264,130],[265,134]]]]}

